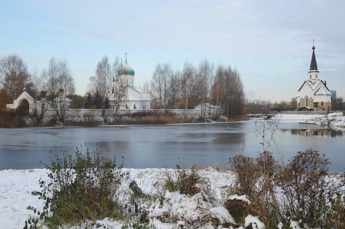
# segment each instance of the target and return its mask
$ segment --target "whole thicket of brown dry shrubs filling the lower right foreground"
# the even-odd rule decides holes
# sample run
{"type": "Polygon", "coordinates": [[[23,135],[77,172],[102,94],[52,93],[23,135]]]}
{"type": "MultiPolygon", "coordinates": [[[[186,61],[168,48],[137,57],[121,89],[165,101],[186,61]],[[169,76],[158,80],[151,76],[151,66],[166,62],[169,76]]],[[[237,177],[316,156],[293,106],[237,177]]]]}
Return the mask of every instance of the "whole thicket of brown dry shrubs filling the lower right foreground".
{"type": "MultiPolygon", "coordinates": [[[[253,204],[247,211],[265,225],[283,222],[288,226],[290,220],[313,228],[344,225],[339,217],[344,216],[344,176],[330,177],[331,163],[318,151],[298,152],[285,167],[266,151],[255,159],[236,155],[229,163],[237,173],[237,187],[232,192],[248,195],[253,204]]],[[[236,203],[226,202],[229,211],[231,204],[236,207],[236,203]]]]}

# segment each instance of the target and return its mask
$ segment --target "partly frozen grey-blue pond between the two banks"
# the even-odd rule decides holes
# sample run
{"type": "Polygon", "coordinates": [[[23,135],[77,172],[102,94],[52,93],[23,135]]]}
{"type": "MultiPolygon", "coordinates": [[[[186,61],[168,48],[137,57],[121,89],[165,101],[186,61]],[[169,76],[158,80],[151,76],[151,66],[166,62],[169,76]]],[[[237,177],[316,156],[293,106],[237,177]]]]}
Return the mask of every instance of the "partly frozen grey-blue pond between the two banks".
{"type": "MultiPolygon", "coordinates": [[[[218,164],[228,166],[229,157],[240,153],[256,157],[263,146],[256,137],[262,123],[253,120],[230,123],[202,123],[147,126],[99,127],[37,127],[0,129],[0,170],[6,168],[43,168],[39,161],[48,162],[51,153],[76,147],[84,142],[93,150],[100,143],[108,144],[117,162],[125,157],[127,168],[175,168],[178,163],[191,166],[218,164]],[[243,140],[245,142],[244,148],[243,140]]],[[[345,134],[312,124],[281,121],[275,131],[271,152],[287,162],[298,151],[308,148],[326,154],[332,170],[345,168],[345,134]]],[[[266,135],[268,140],[270,134],[266,135]]],[[[261,138],[261,139],[260,139],[261,138]]],[[[265,145],[266,148],[267,144],[265,145]]],[[[79,147],[80,148],[80,147],[79,147]]]]}

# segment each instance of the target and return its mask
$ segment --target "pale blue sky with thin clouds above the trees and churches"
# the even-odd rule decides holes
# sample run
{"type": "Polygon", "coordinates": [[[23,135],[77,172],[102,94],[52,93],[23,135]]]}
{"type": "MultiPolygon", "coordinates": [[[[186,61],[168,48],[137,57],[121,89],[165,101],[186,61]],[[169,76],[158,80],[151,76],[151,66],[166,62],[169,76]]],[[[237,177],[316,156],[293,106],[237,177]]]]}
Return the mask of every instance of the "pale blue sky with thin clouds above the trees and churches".
{"type": "Polygon", "coordinates": [[[237,67],[249,99],[290,100],[308,79],[312,39],[319,79],[345,97],[345,1],[0,2],[0,56],[29,69],[67,54],[77,93],[103,55],[117,54],[150,81],[158,62],[183,68],[208,58],[237,67]],[[51,3],[53,2],[53,3],[51,3]]]}

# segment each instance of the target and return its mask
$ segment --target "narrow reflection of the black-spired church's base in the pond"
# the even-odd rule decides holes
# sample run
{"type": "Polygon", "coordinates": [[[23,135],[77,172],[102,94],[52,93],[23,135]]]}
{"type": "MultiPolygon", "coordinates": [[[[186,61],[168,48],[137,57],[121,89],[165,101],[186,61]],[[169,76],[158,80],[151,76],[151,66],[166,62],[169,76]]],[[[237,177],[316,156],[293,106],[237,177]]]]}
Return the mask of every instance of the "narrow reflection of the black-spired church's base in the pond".
{"type": "Polygon", "coordinates": [[[325,129],[284,129],[283,132],[288,132],[293,135],[299,136],[321,136],[321,137],[343,137],[345,132],[343,130],[335,130],[332,128],[325,129]]]}

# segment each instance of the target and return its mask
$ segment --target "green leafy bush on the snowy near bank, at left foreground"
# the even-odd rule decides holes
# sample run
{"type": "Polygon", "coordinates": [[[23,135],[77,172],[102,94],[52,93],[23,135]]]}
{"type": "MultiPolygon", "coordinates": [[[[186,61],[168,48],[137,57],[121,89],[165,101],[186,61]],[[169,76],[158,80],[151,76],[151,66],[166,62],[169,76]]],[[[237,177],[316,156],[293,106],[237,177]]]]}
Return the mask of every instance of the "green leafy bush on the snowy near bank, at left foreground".
{"type": "Polygon", "coordinates": [[[42,191],[32,192],[45,205],[42,211],[28,207],[37,216],[31,216],[24,228],[58,228],[82,221],[88,225],[106,217],[125,217],[125,204],[119,201],[120,185],[129,177],[121,171],[123,163],[116,167],[115,158],[109,158],[108,147],[90,152],[85,144],[85,152],[83,149],[77,148],[73,155],[64,152],[62,158],[55,153],[51,166],[45,164],[48,180],[41,178],[42,191]]]}

